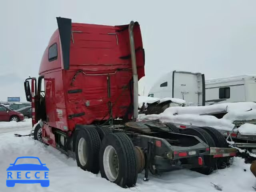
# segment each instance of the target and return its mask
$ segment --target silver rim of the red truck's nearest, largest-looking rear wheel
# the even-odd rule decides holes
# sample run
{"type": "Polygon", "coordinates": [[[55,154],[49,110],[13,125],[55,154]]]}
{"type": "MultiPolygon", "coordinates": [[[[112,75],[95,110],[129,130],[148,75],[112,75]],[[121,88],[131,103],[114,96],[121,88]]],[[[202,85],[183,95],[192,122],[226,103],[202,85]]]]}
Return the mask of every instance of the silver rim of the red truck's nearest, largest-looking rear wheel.
{"type": "Polygon", "coordinates": [[[104,172],[111,182],[114,182],[119,172],[119,162],[116,150],[111,145],[107,146],[103,154],[104,172]]]}

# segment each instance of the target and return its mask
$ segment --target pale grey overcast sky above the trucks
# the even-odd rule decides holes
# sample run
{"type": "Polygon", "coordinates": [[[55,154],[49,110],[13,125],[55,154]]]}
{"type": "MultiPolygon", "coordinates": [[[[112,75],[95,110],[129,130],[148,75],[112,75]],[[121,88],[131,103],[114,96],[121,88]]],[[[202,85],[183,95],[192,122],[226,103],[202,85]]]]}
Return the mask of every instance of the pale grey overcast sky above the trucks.
{"type": "Polygon", "coordinates": [[[56,17],[72,22],[141,26],[145,93],[167,71],[202,72],[206,79],[256,74],[255,0],[5,0],[1,1],[0,101],[20,96],[38,77],[56,17]]]}

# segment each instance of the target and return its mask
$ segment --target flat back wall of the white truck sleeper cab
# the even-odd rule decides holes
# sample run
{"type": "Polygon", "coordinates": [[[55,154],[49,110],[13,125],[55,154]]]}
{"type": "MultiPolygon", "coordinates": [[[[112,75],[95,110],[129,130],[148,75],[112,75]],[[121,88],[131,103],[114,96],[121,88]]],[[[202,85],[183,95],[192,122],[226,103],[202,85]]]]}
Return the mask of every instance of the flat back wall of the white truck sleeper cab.
{"type": "Polygon", "coordinates": [[[204,105],[204,81],[201,73],[173,72],[172,97],[186,101],[186,106],[204,105]]]}

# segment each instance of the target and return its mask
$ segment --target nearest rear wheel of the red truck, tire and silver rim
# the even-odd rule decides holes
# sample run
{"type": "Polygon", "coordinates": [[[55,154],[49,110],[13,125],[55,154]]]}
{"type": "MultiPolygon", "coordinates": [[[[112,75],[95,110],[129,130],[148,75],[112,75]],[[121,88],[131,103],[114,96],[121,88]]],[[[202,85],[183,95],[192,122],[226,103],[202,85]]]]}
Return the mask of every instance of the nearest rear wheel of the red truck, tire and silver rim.
{"type": "Polygon", "coordinates": [[[126,134],[112,133],[102,140],[100,174],[123,188],[135,186],[136,154],[132,140],[126,134]]]}

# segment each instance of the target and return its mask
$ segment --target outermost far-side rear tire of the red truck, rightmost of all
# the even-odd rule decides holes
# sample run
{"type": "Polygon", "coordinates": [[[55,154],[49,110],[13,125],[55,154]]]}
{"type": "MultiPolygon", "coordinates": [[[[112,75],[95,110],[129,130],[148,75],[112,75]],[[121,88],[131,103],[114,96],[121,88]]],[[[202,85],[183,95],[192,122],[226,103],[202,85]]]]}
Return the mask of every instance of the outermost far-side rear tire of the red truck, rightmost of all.
{"type": "MultiPolygon", "coordinates": [[[[223,147],[223,148],[228,148],[228,143],[225,139],[225,137],[215,128],[212,127],[199,127],[202,130],[205,130],[208,132],[208,134],[211,135],[212,139],[214,140],[216,147],[223,147]]],[[[229,157],[221,157],[217,159],[217,168],[218,169],[224,169],[226,168],[229,157]]]]}

